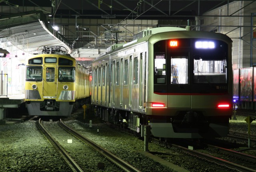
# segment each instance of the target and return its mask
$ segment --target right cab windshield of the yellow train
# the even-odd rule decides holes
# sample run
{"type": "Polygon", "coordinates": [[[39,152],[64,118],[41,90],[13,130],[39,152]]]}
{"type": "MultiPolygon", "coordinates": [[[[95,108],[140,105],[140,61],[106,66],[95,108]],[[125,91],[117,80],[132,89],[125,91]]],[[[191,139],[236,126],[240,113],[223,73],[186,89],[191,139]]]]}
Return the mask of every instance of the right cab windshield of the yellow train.
{"type": "Polygon", "coordinates": [[[75,82],[75,67],[60,66],[58,69],[59,82],[75,82]]]}

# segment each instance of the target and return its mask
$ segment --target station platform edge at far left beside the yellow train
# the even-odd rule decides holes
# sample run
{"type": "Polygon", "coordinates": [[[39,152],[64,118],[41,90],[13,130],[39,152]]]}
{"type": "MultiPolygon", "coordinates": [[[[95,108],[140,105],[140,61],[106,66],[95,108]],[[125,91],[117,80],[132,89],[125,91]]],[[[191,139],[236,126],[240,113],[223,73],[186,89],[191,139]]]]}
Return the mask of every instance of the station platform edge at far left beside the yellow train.
{"type": "Polygon", "coordinates": [[[6,124],[6,109],[19,108],[25,102],[25,94],[0,96],[0,125],[6,124]]]}

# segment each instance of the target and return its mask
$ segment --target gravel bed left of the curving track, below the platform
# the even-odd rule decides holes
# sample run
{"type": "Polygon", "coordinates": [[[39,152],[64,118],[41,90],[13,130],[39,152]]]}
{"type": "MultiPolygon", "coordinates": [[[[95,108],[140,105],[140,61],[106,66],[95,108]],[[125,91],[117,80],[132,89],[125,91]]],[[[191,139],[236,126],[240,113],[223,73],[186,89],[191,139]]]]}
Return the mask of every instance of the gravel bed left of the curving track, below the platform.
{"type": "Polygon", "coordinates": [[[0,126],[1,172],[70,172],[35,121],[0,126]]]}

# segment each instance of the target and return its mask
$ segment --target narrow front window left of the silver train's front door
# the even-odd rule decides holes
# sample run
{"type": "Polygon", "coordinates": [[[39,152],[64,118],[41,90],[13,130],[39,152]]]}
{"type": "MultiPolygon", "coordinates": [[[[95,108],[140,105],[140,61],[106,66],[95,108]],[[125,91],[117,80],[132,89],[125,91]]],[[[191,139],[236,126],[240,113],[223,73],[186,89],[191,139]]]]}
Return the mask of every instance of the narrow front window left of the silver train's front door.
{"type": "Polygon", "coordinates": [[[166,84],[166,58],[164,53],[154,56],[154,84],[166,84]]]}

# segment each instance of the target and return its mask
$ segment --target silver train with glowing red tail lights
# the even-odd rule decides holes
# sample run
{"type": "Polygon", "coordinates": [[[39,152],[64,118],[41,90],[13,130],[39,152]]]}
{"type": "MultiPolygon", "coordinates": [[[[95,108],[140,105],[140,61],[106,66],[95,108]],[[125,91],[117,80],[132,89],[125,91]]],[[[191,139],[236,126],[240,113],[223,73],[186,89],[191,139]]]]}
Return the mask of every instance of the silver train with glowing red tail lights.
{"type": "Polygon", "coordinates": [[[92,104],[103,120],[160,138],[228,134],[232,40],[220,33],[143,30],[92,62],[92,104]]]}

